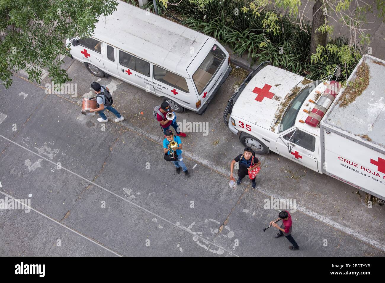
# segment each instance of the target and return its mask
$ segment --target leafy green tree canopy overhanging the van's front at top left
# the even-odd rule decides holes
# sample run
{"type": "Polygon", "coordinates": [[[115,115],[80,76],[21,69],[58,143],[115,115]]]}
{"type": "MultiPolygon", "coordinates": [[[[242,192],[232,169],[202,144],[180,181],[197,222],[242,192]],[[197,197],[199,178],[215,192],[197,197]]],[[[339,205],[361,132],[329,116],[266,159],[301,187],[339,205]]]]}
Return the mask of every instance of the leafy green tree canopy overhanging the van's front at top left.
{"type": "Polygon", "coordinates": [[[116,10],[115,0],[1,0],[0,80],[8,88],[12,73],[25,69],[28,79],[40,83],[39,67],[55,83],[69,81],[61,69],[61,55],[69,55],[63,42],[75,35],[89,36],[100,15],[116,10]]]}

